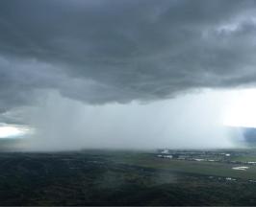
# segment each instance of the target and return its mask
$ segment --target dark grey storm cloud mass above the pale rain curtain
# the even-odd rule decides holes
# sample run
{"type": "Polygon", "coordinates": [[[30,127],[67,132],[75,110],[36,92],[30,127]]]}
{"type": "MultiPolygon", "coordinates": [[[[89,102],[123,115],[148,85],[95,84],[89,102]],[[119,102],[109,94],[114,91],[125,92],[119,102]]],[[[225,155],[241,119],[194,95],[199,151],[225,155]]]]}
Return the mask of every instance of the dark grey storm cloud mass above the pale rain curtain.
{"type": "Polygon", "coordinates": [[[233,0],[3,0],[0,110],[32,104],[44,89],[103,104],[255,84],[254,8],[233,0]]]}

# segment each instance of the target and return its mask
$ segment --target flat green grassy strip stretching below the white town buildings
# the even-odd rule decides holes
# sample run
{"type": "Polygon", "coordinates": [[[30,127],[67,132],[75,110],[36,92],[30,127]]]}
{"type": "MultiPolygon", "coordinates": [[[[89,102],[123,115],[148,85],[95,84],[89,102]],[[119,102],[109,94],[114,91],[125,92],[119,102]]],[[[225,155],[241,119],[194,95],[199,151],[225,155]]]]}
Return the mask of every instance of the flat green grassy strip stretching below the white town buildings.
{"type": "MultiPolygon", "coordinates": [[[[233,167],[243,166],[241,164],[206,162],[206,161],[186,161],[163,159],[156,156],[155,153],[148,152],[123,152],[123,151],[105,151],[102,152],[108,159],[128,165],[141,166],[146,168],[166,170],[176,173],[197,173],[201,175],[224,176],[242,179],[256,180],[256,166],[248,165],[246,171],[236,171],[233,167]]],[[[254,158],[254,157],[253,157],[254,158]]],[[[256,157],[255,157],[256,159],[256,157]]],[[[239,156],[234,160],[252,160],[252,157],[239,156]]]]}

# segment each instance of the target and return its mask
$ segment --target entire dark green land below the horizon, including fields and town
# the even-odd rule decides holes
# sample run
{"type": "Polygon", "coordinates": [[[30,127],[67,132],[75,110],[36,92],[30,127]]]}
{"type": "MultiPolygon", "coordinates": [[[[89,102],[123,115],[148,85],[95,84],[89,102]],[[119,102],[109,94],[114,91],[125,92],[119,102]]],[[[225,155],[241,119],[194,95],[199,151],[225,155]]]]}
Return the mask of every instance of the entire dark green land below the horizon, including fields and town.
{"type": "Polygon", "coordinates": [[[0,205],[256,205],[253,160],[253,150],[3,152],[0,205]]]}

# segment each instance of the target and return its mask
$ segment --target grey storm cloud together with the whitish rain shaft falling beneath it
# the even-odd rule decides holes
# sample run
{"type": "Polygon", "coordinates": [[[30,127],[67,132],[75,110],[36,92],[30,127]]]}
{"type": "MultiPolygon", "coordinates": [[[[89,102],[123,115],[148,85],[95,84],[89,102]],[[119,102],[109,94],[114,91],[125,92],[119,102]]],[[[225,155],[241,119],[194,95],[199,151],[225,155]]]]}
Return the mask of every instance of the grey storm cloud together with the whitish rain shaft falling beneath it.
{"type": "Polygon", "coordinates": [[[231,146],[216,123],[256,83],[255,4],[2,0],[0,123],[45,149],[231,146]]]}

